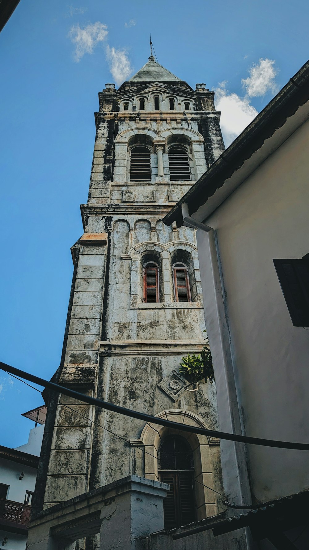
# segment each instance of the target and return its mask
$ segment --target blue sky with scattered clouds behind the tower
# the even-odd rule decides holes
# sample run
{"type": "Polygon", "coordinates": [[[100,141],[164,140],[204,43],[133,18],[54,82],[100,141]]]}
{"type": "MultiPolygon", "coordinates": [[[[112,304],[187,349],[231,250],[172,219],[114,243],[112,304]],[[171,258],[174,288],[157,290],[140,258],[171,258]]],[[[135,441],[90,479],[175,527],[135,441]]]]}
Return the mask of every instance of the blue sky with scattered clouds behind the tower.
{"type": "MultiPolygon", "coordinates": [[[[303,0],[21,0],[0,34],[1,360],[50,378],[59,365],[105,83],[150,54],[216,90],[234,139],[307,61],[303,0]],[[113,75],[111,74],[111,71],[113,75]]],[[[0,443],[26,442],[40,394],[0,373],[0,443]]]]}

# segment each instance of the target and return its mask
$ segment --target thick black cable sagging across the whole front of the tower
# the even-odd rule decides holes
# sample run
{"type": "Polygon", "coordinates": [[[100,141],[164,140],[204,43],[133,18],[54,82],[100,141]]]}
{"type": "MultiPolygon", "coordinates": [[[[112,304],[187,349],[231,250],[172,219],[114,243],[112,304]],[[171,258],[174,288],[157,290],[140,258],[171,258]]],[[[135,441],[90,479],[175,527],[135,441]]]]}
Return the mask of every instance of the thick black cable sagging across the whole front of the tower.
{"type": "Polygon", "coordinates": [[[309,450],[308,443],[291,443],[289,441],[275,441],[274,439],[264,439],[259,437],[249,437],[249,436],[239,436],[234,433],[218,432],[216,430],[208,430],[207,428],[200,428],[197,426],[190,426],[187,424],[180,424],[179,422],[173,422],[172,420],[165,420],[163,418],[158,418],[157,416],[152,416],[145,414],[144,412],[138,412],[131,409],[126,409],[119,405],[114,405],[113,403],[107,403],[102,399],[96,399],[85,395],[84,393],[75,392],[73,389],[65,388],[56,384],[54,382],[48,382],[43,378],[38,376],[31,375],[27,372],[21,371],[19,368],[12,367],[0,361],[1,370],[8,372],[10,374],[15,374],[20,376],[20,378],[25,378],[30,382],[38,384],[38,386],[43,386],[45,388],[52,389],[56,393],[63,393],[69,397],[74,397],[84,403],[89,403],[90,405],[96,405],[101,409],[110,410],[113,412],[118,412],[124,416],[130,416],[131,418],[136,418],[138,420],[143,420],[146,422],[152,422],[158,424],[159,426],[167,426],[168,428],[175,428],[175,430],[181,430],[183,432],[198,433],[202,436],[216,437],[218,439],[227,439],[227,441],[238,441],[240,443],[250,443],[252,445],[262,445],[263,447],[276,447],[279,449],[295,449],[295,450],[309,450]]]}

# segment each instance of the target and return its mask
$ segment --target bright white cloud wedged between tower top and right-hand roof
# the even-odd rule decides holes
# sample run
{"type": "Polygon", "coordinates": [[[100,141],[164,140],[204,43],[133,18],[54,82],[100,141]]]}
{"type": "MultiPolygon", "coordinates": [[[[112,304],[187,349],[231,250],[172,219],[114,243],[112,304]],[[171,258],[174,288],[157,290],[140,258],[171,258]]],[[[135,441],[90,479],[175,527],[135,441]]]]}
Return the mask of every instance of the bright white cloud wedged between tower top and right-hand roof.
{"type": "Polygon", "coordinates": [[[249,98],[230,93],[225,87],[226,84],[226,82],[219,84],[215,90],[214,101],[217,110],[221,111],[220,127],[225,147],[228,147],[257,116],[258,112],[255,107],[250,105],[249,98]]]}

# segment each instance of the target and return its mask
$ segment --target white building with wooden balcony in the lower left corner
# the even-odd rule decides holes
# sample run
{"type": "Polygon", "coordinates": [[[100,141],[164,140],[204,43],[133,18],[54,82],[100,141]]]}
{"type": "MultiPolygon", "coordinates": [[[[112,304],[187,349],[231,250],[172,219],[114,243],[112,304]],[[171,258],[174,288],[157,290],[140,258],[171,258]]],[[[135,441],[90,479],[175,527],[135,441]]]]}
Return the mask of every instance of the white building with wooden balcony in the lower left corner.
{"type": "Polygon", "coordinates": [[[46,405],[25,412],[23,416],[35,421],[28,442],[15,449],[0,445],[0,545],[5,550],[26,548],[46,405]]]}

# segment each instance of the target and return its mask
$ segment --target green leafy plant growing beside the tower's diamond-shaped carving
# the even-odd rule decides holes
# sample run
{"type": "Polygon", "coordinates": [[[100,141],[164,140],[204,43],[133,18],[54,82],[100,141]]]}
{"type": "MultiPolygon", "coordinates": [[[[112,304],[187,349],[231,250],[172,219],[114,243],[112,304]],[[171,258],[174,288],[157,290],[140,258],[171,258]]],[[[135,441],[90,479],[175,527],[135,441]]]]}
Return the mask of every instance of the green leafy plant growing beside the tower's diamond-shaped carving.
{"type": "MultiPolygon", "coordinates": [[[[203,331],[206,332],[206,331],[203,331]]],[[[212,356],[209,347],[208,338],[200,355],[188,354],[181,358],[179,363],[179,372],[191,383],[198,383],[202,380],[209,381],[211,384],[214,381],[214,372],[212,364],[212,356]]]]}

